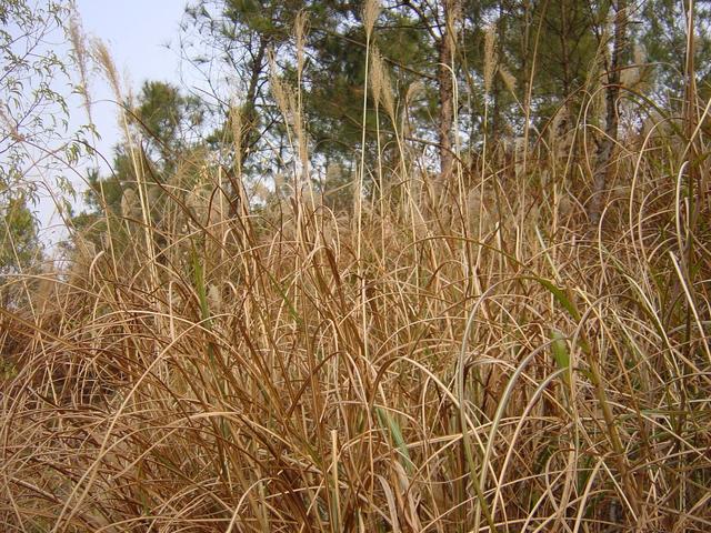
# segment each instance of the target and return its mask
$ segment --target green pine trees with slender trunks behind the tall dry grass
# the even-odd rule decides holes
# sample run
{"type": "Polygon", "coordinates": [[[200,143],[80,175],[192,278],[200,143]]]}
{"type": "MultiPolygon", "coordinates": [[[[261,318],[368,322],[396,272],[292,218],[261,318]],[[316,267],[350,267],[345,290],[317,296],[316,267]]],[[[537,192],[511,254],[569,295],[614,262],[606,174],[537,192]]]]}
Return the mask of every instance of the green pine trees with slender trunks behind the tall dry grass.
{"type": "MultiPolygon", "coordinates": [[[[361,157],[365,195],[388,187],[378,165],[397,182],[415,159],[441,193],[455,172],[520,167],[531,147],[558,144],[594,154],[590,175],[571,178],[595,223],[620,135],[677,124],[689,77],[692,100],[708,91],[711,12],[693,9],[692,21],[669,0],[190,2],[181,51],[211,93],[151,81],[127,108],[151,180],[174,181],[193,153],[239,168],[257,202],[311,187],[349,209],[361,157]]],[[[136,182],[128,152],[106,185],[117,209],[136,182]]]]}

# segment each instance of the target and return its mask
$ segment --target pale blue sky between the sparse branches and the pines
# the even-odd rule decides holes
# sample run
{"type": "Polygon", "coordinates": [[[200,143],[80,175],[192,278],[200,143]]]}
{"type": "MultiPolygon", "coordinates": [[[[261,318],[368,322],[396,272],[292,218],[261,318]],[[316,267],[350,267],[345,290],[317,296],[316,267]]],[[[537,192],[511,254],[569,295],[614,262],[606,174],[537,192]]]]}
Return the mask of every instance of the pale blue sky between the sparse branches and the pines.
{"type": "MultiPolygon", "coordinates": [[[[179,24],[186,0],[76,0],[84,33],[107,43],[124,88],[138,92],[146,80],[191,84],[181,73],[178,51],[179,24]],[[170,47],[170,48],[169,48],[170,47]]],[[[116,99],[106,80],[92,74],[89,94],[92,113],[101,140],[97,148],[107,160],[120,140],[116,99]]],[[[87,122],[80,100],[72,99],[70,128],[87,122]]],[[[72,180],[77,190],[81,180],[72,180]]],[[[46,228],[43,240],[56,242],[63,233],[53,203],[46,198],[39,205],[39,218],[46,228]]]]}

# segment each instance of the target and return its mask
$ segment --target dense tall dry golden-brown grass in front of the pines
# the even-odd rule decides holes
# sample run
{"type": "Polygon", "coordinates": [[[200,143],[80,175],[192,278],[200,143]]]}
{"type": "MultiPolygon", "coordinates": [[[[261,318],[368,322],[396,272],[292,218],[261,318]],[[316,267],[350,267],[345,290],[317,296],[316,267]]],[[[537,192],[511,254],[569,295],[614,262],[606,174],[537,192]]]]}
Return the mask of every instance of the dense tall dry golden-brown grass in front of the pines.
{"type": "Polygon", "coordinates": [[[711,530],[708,147],[627,132],[591,229],[570,128],[434,203],[402,143],[356,224],[187,158],[158,227],[137,168],[0,310],[1,529],[711,530]]]}

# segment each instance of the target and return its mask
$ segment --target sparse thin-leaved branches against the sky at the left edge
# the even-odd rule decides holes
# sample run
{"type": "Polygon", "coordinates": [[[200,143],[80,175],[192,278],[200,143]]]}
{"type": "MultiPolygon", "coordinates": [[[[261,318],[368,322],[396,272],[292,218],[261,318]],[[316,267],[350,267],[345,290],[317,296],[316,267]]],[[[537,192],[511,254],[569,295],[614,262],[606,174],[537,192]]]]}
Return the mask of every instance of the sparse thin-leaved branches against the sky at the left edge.
{"type": "Polygon", "coordinates": [[[52,42],[64,38],[68,14],[66,2],[0,0],[0,273],[41,252],[31,208],[34,179],[51,168],[68,124],[57,90],[67,68],[52,42]]]}

